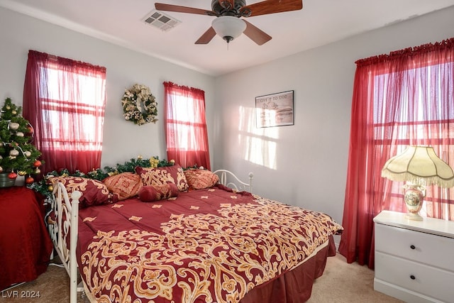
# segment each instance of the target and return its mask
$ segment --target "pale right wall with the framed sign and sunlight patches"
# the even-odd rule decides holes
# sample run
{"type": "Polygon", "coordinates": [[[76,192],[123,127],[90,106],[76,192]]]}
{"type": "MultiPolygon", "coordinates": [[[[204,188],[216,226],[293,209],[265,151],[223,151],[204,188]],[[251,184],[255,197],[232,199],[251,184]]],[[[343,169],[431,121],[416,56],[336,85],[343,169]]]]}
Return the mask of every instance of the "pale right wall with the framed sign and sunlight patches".
{"type": "Polygon", "coordinates": [[[342,222],[355,60],[454,37],[454,7],[216,79],[215,168],[342,222]],[[255,97],[294,90],[294,126],[256,128],[255,97]]]}

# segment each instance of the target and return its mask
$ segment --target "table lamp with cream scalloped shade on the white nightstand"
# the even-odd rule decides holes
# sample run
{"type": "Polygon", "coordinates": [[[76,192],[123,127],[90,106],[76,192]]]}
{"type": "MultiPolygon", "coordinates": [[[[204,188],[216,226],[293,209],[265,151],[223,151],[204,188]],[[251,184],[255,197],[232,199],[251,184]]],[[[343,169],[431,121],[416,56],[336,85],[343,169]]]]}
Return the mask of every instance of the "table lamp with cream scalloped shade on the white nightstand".
{"type": "Polygon", "coordinates": [[[426,197],[426,186],[454,186],[453,169],[438,158],[430,146],[409,146],[403,153],[387,160],[382,177],[392,181],[405,181],[404,201],[411,220],[422,221],[419,211],[426,197]]]}

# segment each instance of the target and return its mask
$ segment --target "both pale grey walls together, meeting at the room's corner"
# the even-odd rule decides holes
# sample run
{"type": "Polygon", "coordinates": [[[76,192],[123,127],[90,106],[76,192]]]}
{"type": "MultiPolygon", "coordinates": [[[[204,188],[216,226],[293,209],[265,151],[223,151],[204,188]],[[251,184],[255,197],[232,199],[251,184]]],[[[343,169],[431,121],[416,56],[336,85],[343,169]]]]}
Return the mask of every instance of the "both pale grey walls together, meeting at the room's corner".
{"type": "Polygon", "coordinates": [[[341,222],[355,60],[454,36],[454,7],[214,79],[199,72],[0,9],[0,98],[22,104],[29,49],[102,65],[107,104],[102,166],[166,158],[162,82],[204,89],[213,169],[255,173],[255,193],[326,211],[341,222]],[[158,100],[159,121],[124,121],[136,82],[158,100]],[[294,126],[256,128],[255,97],[294,90],[294,126]]]}

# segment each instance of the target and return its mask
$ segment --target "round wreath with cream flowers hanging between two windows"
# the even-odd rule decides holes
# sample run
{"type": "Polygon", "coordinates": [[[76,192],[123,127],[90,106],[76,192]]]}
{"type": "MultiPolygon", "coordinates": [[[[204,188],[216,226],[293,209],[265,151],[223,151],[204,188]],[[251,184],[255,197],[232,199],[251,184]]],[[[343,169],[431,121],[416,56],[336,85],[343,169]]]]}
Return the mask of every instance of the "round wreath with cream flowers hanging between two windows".
{"type": "Polygon", "coordinates": [[[134,84],[133,87],[125,89],[123,99],[123,116],[127,121],[143,125],[145,123],[156,123],[157,102],[150,88],[142,84],[134,84]]]}

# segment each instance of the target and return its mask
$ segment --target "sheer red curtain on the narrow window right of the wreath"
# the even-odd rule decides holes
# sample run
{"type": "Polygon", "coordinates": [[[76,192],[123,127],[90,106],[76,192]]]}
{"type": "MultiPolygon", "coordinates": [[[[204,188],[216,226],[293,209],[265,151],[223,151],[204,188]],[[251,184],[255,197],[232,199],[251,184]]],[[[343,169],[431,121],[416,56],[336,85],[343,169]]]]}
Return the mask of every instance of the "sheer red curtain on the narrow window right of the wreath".
{"type": "Polygon", "coordinates": [[[205,92],[164,82],[167,159],[210,170],[205,92]]]}

